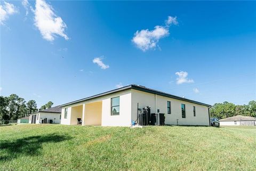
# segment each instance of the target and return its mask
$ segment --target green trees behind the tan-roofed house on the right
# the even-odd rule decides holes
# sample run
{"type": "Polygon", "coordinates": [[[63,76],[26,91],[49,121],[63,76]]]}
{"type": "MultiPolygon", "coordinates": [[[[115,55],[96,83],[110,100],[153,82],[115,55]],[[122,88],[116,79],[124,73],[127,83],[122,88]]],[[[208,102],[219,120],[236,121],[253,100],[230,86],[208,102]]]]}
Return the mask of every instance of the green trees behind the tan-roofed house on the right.
{"type": "Polygon", "coordinates": [[[237,115],[256,117],[256,101],[252,100],[248,104],[235,105],[234,103],[215,103],[210,109],[211,117],[228,118],[237,115]]]}

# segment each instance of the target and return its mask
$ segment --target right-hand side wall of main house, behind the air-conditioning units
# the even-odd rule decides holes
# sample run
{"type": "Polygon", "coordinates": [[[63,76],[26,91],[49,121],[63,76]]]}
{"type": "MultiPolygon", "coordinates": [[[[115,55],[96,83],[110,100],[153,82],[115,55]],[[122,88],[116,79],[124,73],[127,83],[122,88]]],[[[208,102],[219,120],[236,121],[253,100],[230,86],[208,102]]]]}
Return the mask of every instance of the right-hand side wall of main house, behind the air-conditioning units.
{"type": "Polygon", "coordinates": [[[137,105],[139,108],[149,106],[151,113],[165,113],[165,124],[167,125],[202,125],[209,126],[208,107],[165,96],[141,92],[132,89],[132,120],[137,120],[137,105]],[[171,114],[167,114],[167,101],[171,102],[171,114]],[[181,116],[181,104],[186,105],[186,118],[181,116]],[[196,107],[196,116],[194,117],[193,106],[196,107]]]}

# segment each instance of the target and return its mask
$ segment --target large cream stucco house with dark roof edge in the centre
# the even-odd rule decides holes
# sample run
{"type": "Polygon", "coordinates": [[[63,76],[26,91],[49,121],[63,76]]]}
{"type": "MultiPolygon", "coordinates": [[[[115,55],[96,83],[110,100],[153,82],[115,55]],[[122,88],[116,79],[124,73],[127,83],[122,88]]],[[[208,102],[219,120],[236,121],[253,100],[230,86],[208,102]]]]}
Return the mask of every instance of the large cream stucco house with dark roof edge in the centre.
{"type": "Polygon", "coordinates": [[[77,125],[81,118],[82,125],[130,126],[147,106],[165,113],[167,125],[210,125],[211,105],[134,84],[60,105],[61,124],[77,125]]]}

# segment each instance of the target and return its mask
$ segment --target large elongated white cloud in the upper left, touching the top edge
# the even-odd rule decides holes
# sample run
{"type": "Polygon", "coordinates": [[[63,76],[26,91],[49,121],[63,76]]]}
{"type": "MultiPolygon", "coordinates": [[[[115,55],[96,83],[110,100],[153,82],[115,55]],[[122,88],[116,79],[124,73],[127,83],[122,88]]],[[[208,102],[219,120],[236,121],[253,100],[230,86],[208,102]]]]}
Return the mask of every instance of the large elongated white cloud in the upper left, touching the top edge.
{"type": "Polygon", "coordinates": [[[65,34],[67,25],[58,17],[53,10],[53,7],[43,0],[36,0],[35,26],[41,32],[44,39],[53,41],[56,35],[59,35],[66,40],[68,36],[65,34]]]}

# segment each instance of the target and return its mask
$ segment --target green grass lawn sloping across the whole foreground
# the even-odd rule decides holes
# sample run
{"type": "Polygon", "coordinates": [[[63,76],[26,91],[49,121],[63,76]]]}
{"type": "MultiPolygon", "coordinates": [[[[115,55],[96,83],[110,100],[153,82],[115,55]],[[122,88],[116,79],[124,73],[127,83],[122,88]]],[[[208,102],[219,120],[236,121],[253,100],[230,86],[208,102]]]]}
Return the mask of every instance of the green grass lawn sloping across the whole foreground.
{"type": "Polygon", "coordinates": [[[255,170],[256,127],[0,127],[0,170],[255,170]]]}

